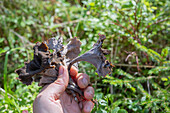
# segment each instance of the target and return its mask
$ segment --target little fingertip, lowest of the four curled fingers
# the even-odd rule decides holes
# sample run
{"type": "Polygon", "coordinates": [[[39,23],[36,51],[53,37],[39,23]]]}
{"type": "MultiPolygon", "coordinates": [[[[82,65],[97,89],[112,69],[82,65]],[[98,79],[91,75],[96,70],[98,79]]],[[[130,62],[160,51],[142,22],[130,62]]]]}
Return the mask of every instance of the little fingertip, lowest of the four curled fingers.
{"type": "Polygon", "coordinates": [[[91,113],[94,107],[94,103],[92,101],[85,101],[83,103],[83,113],[91,113]]]}

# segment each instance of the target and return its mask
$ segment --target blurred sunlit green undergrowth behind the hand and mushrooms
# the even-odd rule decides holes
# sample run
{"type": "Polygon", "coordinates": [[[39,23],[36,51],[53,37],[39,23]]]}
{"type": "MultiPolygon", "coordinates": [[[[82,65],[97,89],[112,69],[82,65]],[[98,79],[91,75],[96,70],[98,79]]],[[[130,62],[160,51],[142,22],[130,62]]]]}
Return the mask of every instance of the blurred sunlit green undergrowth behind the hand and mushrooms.
{"type": "Polygon", "coordinates": [[[102,78],[80,63],[95,88],[93,112],[170,112],[169,14],[169,0],[1,0],[0,112],[32,112],[41,87],[23,85],[14,71],[33,58],[37,41],[77,36],[84,53],[98,33],[115,68],[102,78]]]}

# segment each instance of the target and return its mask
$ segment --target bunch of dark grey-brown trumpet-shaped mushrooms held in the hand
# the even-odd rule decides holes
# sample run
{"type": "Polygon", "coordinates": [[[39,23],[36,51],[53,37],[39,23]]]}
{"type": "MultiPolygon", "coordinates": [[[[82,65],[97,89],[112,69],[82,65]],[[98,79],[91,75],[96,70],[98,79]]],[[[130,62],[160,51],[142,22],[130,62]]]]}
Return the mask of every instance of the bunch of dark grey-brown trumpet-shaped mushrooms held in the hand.
{"type": "MultiPolygon", "coordinates": [[[[99,34],[98,41],[93,45],[92,49],[86,53],[79,55],[81,42],[76,37],[70,39],[69,43],[64,46],[62,37],[50,38],[42,43],[37,42],[33,47],[34,58],[30,62],[25,63],[25,66],[17,69],[16,73],[19,79],[26,85],[30,85],[32,81],[39,82],[40,86],[50,84],[57,79],[60,65],[68,67],[68,72],[72,65],[79,61],[86,61],[93,64],[99,76],[105,76],[112,71],[112,65],[106,60],[104,55],[109,54],[109,51],[102,49],[105,35],[99,34]]],[[[72,78],[69,78],[69,84],[66,92],[72,95],[75,100],[76,93],[83,96],[83,92],[78,85],[74,83],[72,78]]]]}

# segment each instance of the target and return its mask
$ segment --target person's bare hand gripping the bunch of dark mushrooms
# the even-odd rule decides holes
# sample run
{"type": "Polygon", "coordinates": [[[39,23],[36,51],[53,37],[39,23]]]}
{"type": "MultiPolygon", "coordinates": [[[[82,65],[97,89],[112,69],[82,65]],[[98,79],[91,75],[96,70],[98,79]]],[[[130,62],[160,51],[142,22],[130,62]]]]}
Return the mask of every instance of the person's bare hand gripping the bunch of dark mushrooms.
{"type": "Polygon", "coordinates": [[[86,100],[78,104],[72,96],[65,92],[69,75],[67,69],[60,66],[58,79],[50,85],[44,86],[34,100],[34,113],[90,113],[92,111],[94,103],[90,99],[94,96],[94,89],[88,86],[89,76],[78,73],[75,67],[71,68],[70,75],[75,79],[77,85],[83,89],[86,100]]]}

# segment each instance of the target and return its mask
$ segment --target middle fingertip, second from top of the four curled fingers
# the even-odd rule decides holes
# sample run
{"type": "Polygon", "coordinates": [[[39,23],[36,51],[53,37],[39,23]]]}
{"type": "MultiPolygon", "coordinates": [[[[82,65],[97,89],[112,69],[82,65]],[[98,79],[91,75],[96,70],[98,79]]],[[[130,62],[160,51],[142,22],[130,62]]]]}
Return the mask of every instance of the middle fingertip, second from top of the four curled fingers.
{"type": "Polygon", "coordinates": [[[87,74],[79,73],[76,76],[77,84],[80,88],[84,89],[90,83],[90,78],[87,74]]]}

